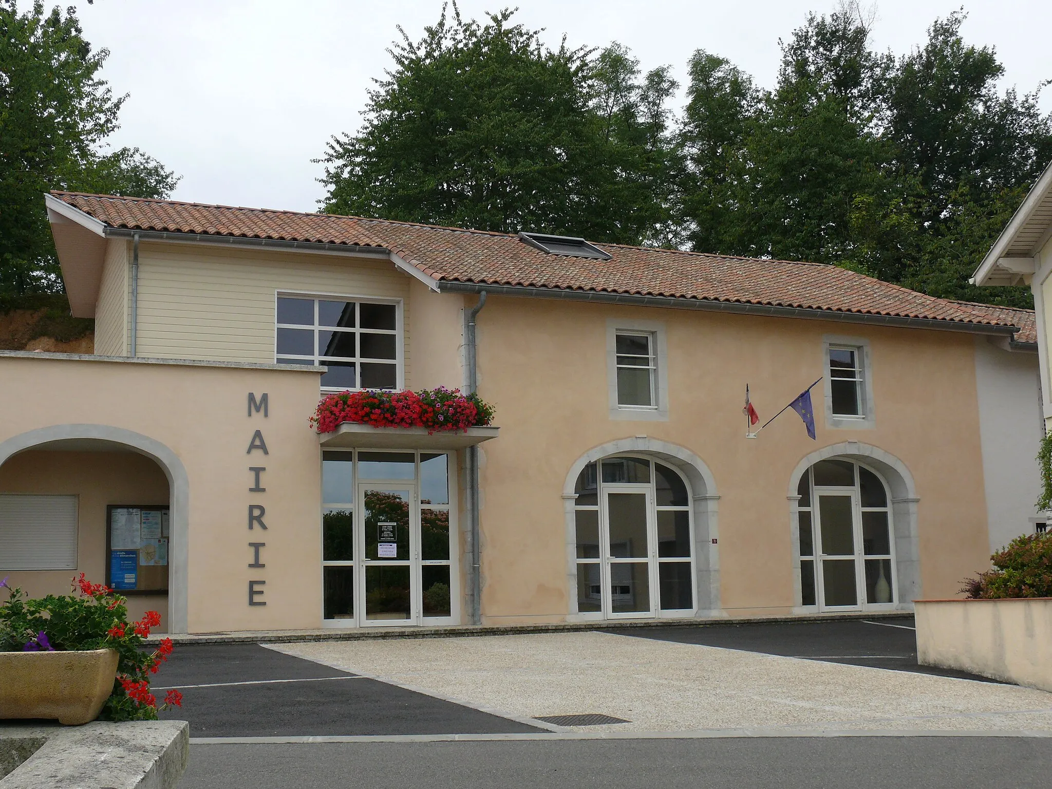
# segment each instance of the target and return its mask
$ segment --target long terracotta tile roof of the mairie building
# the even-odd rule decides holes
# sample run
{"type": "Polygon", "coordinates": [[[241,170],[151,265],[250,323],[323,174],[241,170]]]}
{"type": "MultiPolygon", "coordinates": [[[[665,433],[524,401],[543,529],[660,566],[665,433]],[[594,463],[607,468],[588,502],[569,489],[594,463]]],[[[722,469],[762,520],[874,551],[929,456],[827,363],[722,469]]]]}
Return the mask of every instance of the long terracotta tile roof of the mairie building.
{"type": "Polygon", "coordinates": [[[608,261],[549,255],[507,234],[54,191],[118,228],[390,249],[436,280],[696,299],[830,312],[1015,326],[1036,341],[1031,310],[937,299],[832,265],[595,243],[608,261]]]}

